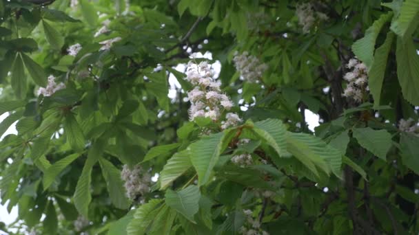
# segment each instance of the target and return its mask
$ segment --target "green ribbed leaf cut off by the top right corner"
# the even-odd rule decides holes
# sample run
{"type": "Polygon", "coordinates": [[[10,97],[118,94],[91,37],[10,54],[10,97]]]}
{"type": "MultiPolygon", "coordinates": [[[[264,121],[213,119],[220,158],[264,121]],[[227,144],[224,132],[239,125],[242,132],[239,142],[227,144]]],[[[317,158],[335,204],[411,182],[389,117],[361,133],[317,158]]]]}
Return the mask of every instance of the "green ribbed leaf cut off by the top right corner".
{"type": "Polygon", "coordinates": [[[398,19],[391,23],[391,30],[393,30],[398,36],[404,37],[409,31],[411,25],[415,25],[418,21],[419,13],[419,1],[418,0],[406,0],[400,8],[400,14],[398,19]]]}

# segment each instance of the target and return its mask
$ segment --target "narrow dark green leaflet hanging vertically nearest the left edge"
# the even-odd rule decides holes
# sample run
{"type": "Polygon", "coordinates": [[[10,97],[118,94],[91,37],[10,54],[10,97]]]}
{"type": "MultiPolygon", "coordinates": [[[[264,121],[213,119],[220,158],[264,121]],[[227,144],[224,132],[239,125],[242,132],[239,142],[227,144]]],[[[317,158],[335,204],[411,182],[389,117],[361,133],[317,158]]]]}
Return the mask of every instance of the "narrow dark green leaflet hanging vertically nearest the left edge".
{"type": "Polygon", "coordinates": [[[23,98],[25,96],[27,89],[26,76],[25,68],[23,67],[23,61],[20,54],[17,54],[16,58],[14,58],[11,85],[17,97],[23,98]]]}

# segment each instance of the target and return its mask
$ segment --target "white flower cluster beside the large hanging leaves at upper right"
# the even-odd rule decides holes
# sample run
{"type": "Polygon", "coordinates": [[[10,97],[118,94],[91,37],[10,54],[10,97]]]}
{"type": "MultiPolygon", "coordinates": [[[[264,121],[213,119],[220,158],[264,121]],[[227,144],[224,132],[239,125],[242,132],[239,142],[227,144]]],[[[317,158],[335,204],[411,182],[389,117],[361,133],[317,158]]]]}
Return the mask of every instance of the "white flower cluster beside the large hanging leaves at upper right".
{"type": "Polygon", "coordinates": [[[361,102],[365,92],[368,91],[367,66],[364,63],[360,63],[356,58],[352,58],[349,60],[347,68],[352,69],[352,71],[347,72],[343,76],[343,79],[348,82],[343,96],[352,98],[356,102],[361,102]]]}

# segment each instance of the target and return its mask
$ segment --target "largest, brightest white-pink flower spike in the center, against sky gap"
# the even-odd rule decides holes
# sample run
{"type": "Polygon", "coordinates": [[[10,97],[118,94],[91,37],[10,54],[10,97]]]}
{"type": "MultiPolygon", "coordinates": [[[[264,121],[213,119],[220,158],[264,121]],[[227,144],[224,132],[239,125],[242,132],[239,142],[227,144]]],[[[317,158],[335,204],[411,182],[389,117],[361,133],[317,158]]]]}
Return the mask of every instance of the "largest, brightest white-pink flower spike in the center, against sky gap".
{"type": "MultiPolygon", "coordinates": [[[[210,117],[216,121],[220,119],[223,110],[229,110],[233,107],[230,98],[221,93],[221,82],[215,81],[214,74],[207,62],[201,62],[198,65],[188,63],[186,70],[186,80],[196,86],[187,93],[191,102],[189,109],[190,120],[196,117],[210,117]]],[[[227,113],[228,116],[234,116],[235,113],[227,113]]],[[[236,115],[236,117],[238,117],[236,115]]],[[[230,121],[233,122],[233,121],[230,121]]]]}

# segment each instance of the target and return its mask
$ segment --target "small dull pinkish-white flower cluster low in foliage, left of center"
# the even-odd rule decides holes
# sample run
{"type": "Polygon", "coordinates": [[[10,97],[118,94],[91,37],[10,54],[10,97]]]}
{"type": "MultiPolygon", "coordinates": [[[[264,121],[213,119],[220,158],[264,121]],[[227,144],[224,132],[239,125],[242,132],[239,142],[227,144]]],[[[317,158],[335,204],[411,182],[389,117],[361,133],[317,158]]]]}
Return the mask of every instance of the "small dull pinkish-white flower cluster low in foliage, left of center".
{"type": "Polygon", "coordinates": [[[131,200],[150,192],[152,178],[149,172],[143,170],[141,166],[135,166],[131,170],[127,165],[124,165],[121,178],[125,181],[124,187],[127,191],[127,197],[131,200]]]}

